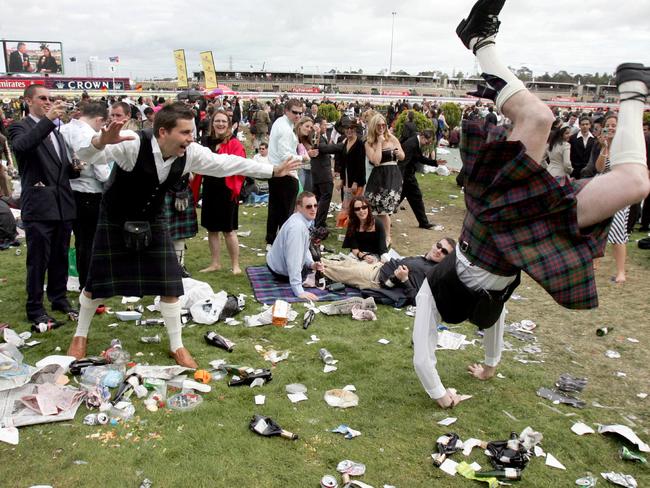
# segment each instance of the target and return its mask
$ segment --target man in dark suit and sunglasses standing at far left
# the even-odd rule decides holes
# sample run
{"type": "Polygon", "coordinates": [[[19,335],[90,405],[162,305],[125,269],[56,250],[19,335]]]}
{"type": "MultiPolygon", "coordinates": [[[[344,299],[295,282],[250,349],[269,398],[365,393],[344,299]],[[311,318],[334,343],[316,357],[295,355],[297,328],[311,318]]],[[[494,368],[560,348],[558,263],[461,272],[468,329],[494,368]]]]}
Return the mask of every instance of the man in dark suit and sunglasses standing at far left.
{"type": "Polygon", "coordinates": [[[66,297],[68,248],[75,218],[70,177],[77,175],[65,141],[54,121],[66,110],[53,102],[41,85],[25,89],[29,116],[9,126],[9,138],[21,177],[21,210],[27,238],[27,318],[35,323],[54,323],[43,307],[47,272],[47,296],[52,310],[74,318],[66,297]]]}

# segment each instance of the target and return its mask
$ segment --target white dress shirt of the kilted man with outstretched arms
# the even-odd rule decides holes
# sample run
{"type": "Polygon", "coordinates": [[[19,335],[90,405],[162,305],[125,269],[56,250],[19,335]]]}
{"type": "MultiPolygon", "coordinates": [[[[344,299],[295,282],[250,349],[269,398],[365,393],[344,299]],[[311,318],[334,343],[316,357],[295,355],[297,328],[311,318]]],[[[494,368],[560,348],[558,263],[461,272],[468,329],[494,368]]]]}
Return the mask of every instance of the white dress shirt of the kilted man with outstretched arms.
{"type": "MultiPolygon", "coordinates": [[[[109,144],[103,151],[108,160],[115,161],[124,171],[133,171],[140,152],[140,137],[133,131],[121,131],[122,136],[132,136],[134,139],[123,141],[119,144],[109,144]]],[[[92,158],[102,150],[92,144],[92,137],[87,137],[83,145],[77,150],[77,155],[84,161],[92,158]]],[[[163,159],[160,146],[155,137],[151,138],[151,148],[156,162],[158,181],[163,183],[169,176],[171,166],[177,156],[163,159]]],[[[273,166],[257,163],[251,159],[245,159],[232,154],[216,154],[207,147],[196,142],[191,143],[185,149],[185,168],[183,174],[197,173],[200,175],[216,176],[218,178],[233,175],[246,175],[253,178],[271,178],[273,166]]]]}

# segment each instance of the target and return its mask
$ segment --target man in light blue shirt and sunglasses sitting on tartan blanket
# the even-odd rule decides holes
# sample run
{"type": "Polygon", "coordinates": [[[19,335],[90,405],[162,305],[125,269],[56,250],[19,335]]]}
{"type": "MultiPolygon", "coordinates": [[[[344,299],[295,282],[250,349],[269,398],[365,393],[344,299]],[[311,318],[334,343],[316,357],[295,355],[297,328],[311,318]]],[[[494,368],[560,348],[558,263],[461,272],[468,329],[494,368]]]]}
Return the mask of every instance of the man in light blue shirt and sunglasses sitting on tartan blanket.
{"type": "Polygon", "coordinates": [[[318,203],[313,193],[304,191],[298,195],[296,213],[280,227],[266,255],[266,264],[273,276],[288,281],[293,294],[305,300],[318,300],[318,297],[304,290],[304,278],[312,270],[323,271],[323,265],[314,262],[309,251],[309,230],[314,225],[317,211],[318,203]]]}

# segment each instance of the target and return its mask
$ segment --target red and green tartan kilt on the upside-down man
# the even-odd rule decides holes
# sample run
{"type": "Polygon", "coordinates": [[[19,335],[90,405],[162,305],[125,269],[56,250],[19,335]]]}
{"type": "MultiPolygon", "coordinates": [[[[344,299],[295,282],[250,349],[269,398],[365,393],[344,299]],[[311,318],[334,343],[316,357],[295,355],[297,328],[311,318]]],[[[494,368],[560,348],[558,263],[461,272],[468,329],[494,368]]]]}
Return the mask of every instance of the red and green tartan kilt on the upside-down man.
{"type": "Polygon", "coordinates": [[[590,180],[552,177],[518,141],[466,142],[461,250],[497,275],[525,271],[564,307],[597,307],[592,261],[604,253],[611,219],[578,227],[576,195],[590,180]]]}

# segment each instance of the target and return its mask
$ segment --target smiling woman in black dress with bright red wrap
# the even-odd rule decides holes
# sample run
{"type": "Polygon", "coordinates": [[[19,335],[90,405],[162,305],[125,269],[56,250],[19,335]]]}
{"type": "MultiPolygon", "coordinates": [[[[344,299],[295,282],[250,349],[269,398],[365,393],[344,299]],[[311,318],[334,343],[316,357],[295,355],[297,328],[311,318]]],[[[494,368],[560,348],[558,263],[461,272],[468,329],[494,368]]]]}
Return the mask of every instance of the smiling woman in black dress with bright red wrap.
{"type": "MultiPolygon", "coordinates": [[[[234,154],[246,157],[246,151],[241,142],[233,137],[232,119],[223,110],[216,110],[212,116],[210,130],[204,144],[217,154],[234,154]]],[[[239,193],[244,183],[243,176],[227,176],[203,178],[203,204],[201,206],[201,226],[208,230],[210,266],[201,270],[202,273],[221,269],[221,242],[219,233],[223,234],[232,263],[233,274],[240,274],[239,267],[239,193]]]]}

